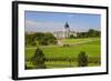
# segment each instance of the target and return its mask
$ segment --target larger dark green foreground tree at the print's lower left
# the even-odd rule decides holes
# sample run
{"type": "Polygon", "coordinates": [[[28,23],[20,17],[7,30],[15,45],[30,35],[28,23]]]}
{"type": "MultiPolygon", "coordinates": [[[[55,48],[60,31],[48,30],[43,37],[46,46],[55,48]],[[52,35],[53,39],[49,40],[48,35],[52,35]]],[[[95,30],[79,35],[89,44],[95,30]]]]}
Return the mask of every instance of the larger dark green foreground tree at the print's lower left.
{"type": "Polygon", "coordinates": [[[32,63],[36,69],[46,69],[44,54],[41,49],[36,49],[34,55],[32,57],[32,63]]]}

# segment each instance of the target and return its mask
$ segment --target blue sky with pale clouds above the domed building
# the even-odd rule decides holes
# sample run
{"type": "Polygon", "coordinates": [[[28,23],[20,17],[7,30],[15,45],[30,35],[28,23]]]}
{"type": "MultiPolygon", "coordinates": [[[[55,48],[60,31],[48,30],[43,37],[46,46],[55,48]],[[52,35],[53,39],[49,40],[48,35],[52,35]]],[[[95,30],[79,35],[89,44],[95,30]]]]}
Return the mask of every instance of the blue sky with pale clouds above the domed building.
{"type": "Polygon", "coordinates": [[[69,23],[71,31],[83,32],[89,29],[100,30],[101,16],[88,13],[26,11],[24,22],[27,32],[63,31],[65,22],[69,23]]]}

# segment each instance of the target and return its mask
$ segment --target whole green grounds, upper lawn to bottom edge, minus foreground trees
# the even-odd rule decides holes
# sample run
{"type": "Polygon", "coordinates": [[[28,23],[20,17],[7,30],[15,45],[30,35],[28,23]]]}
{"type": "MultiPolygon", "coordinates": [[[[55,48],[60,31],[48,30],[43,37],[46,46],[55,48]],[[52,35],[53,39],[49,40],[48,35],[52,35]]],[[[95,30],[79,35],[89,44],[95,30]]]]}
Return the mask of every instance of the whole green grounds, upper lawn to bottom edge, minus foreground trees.
{"type": "MultiPolygon", "coordinates": [[[[98,67],[101,65],[101,48],[100,48],[100,38],[84,38],[84,39],[67,39],[65,43],[78,43],[81,41],[88,41],[88,40],[97,40],[97,41],[90,41],[90,42],[85,42],[85,43],[80,43],[77,45],[70,45],[70,47],[60,47],[60,45],[40,45],[39,49],[42,50],[44,57],[48,59],[53,59],[53,58],[60,58],[61,60],[63,58],[70,58],[71,61],[71,65],[72,67],[78,67],[78,54],[81,50],[85,51],[85,53],[88,54],[88,67],[98,67]]],[[[32,65],[30,63],[30,59],[36,53],[36,47],[26,47],[26,64],[28,69],[36,69],[34,65],[32,65]]],[[[53,59],[54,60],[54,59],[53,59]]],[[[57,68],[56,65],[58,65],[58,68],[67,68],[65,64],[70,64],[68,60],[65,61],[47,61],[46,63],[46,68],[48,69],[52,69],[52,68],[57,68]],[[51,65],[54,64],[54,65],[51,65]],[[62,64],[64,64],[62,67],[62,64]]]]}

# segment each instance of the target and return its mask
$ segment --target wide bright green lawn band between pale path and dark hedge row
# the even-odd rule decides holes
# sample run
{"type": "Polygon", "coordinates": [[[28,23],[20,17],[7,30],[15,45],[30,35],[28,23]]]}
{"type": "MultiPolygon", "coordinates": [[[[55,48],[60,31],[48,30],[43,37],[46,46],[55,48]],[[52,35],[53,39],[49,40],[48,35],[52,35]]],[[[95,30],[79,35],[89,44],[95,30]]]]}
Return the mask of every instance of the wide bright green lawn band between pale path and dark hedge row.
{"type": "MultiPolygon", "coordinates": [[[[77,39],[73,39],[73,40],[77,40],[77,39]]],[[[44,55],[48,58],[52,58],[52,57],[67,58],[69,55],[77,58],[78,57],[77,53],[79,53],[80,50],[87,51],[87,54],[89,54],[89,57],[100,57],[101,55],[100,40],[91,41],[91,42],[87,42],[87,43],[82,43],[78,45],[65,47],[65,48],[58,47],[58,45],[57,47],[56,45],[54,47],[41,45],[39,48],[43,51],[44,55]]],[[[37,48],[34,47],[31,47],[31,49],[26,48],[26,58],[30,59],[33,55],[36,49],[37,48]]]]}

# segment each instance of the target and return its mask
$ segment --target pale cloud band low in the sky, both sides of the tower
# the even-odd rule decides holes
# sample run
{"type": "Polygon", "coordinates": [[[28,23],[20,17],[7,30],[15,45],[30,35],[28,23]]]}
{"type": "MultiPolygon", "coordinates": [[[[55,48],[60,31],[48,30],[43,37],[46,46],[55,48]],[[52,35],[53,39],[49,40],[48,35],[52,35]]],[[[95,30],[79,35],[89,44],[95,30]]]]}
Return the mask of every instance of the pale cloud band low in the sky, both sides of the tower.
{"type": "MultiPolygon", "coordinates": [[[[46,22],[40,22],[40,21],[32,21],[32,20],[26,20],[26,31],[28,32],[56,32],[56,31],[63,31],[65,22],[51,22],[51,21],[46,21],[46,22]]],[[[89,29],[92,29],[91,27],[81,27],[80,23],[70,23],[70,30],[71,31],[88,31],[89,29]]],[[[93,29],[100,30],[100,27],[94,27],[93,29]]]]}

